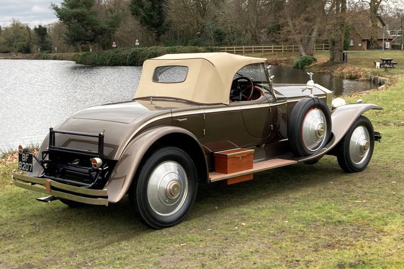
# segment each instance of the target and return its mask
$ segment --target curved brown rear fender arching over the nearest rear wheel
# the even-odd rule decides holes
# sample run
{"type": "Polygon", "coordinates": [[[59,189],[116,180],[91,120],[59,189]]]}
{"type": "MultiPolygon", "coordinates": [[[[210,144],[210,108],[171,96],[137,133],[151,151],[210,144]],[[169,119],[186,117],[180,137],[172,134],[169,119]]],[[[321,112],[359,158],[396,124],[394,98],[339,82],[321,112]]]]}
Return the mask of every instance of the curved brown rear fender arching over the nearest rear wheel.
{"type": "MultiPolygon", "coordinates": [[[[126,146],[105,186],[105,189],[108,190],[109,202],[118,202],[127,193],[140,162],[150,146],[160,138],[173,133],[191,137],[199,145],[201,154],[204,154],[198,139],[189,131],[179,127],[158,126],[138,134],[126,146]]],[[[206,170],[208,173],[207,166],[206,170]]]]}

